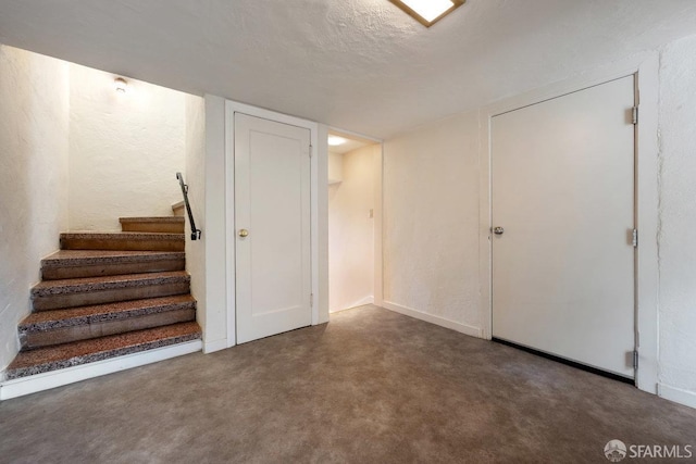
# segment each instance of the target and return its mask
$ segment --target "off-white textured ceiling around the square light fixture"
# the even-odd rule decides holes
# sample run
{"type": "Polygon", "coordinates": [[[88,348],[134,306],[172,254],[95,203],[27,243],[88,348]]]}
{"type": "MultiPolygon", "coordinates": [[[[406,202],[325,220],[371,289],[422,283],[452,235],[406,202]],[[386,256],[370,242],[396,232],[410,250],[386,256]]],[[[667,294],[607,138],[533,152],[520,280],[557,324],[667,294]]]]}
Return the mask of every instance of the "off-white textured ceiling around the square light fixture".
{"type": "Polygon", "coordinates": [[[0,0],[0,42],[374,137],[696,34],[694,0],[0,0]]]}

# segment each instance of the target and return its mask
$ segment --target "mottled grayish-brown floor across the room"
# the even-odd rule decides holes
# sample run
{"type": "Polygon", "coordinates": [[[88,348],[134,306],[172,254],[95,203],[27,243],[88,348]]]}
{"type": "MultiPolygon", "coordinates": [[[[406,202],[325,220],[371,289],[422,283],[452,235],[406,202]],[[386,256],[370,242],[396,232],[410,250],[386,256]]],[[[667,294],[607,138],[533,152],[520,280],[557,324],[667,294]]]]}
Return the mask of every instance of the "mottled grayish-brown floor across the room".
{"type": "Polygon", "coordinates": [[[607,463],[611,439],[696,448],[696,410],[375,306],[0,403],[2,463],[607,463]]]}

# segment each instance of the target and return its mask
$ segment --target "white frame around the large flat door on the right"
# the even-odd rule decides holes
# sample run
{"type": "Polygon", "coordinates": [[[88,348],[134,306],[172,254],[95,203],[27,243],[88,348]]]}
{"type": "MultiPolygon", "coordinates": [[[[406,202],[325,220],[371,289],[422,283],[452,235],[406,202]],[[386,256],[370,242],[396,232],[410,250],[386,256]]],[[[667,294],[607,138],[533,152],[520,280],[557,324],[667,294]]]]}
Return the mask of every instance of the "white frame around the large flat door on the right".
{"type": "Polygon", "coordinates": [[[635,130],[635,215],[641,240],[635,253],[635,341],[638,350],[635,384],[641,390],[654,394],[657,393],[658,384],[658,54],[646,53],[587,72],[580,77],[500,100],[482,108],[478,114],[481,321],[484,338],[492,339],[492,118],[609,80],[636,76],[639,120],[635,130]]]}

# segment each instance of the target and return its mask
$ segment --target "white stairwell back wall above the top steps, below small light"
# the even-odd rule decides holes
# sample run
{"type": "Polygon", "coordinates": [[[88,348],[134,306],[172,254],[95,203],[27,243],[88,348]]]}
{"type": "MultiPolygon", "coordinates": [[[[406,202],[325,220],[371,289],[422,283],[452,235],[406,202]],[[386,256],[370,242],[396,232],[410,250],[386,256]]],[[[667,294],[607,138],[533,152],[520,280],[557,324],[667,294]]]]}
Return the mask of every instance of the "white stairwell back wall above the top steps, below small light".
{"type": "Polygon", "coordinates": [[[169,216],[181,201],[186,95],[70,65],[70,228],[120,230],[120,216],[169,216]]]}

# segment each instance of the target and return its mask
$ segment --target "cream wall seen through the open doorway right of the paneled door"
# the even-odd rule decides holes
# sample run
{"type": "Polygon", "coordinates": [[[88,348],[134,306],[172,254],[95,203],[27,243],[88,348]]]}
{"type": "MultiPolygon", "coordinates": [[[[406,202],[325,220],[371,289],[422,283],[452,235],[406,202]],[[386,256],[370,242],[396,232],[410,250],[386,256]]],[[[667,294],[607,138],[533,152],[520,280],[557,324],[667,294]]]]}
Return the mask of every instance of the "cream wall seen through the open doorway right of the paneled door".
{"type": "MultiPolygon", "coordinates": [[[[345,154],[330,153],[340,163],[343,180],[328,186],[328,310],[347,310],[374,302],[375,159],[380,145],[345,154]]],[[[334,172],[337,171],[335,166],[334,172]]]]}

